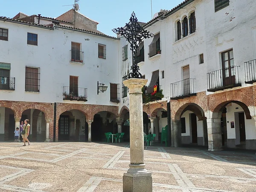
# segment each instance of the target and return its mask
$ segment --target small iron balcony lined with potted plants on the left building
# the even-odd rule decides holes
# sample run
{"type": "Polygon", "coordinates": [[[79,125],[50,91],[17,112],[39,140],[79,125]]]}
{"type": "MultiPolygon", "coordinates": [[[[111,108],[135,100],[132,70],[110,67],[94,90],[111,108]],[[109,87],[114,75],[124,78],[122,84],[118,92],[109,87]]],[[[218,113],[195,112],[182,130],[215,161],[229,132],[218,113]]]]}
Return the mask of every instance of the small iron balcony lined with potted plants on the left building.
{"type": "Polygon", "coordinates": [[[87,88],[65,86],[63,100],[87,102],[87,88]]]}

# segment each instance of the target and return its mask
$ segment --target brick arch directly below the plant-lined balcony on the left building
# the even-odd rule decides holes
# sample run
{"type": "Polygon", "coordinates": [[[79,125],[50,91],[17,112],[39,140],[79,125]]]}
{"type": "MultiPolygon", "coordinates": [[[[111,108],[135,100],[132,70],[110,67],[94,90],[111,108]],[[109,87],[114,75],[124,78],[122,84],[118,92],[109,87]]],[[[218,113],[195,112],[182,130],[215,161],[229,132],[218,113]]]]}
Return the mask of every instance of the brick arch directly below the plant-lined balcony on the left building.
{"type": "Polygon", "coordinates": [[[70,110],[81,111],[85,115],[86,121],[91,120],[90,119],[90,108],[88,108],[87,105],[81,105],[81,104],[67,104],[67,105],[62,105],[61,107],[57,106],[56,120],[59,119],[59,117],[62,113],[64,113],[65,111],[70,111],[70,110]]]}

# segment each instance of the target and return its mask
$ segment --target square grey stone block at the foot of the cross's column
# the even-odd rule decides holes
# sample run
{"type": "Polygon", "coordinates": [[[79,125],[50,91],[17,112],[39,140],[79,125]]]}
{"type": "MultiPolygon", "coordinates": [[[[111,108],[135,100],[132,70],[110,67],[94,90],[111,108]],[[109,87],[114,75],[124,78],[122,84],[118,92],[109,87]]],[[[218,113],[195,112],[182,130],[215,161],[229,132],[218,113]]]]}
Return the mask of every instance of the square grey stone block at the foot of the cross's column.
{"type": "Polygon", "coordinates": [[[152,176],[128,174],[123,176],[123,192],[152,192],[152,176]]]}

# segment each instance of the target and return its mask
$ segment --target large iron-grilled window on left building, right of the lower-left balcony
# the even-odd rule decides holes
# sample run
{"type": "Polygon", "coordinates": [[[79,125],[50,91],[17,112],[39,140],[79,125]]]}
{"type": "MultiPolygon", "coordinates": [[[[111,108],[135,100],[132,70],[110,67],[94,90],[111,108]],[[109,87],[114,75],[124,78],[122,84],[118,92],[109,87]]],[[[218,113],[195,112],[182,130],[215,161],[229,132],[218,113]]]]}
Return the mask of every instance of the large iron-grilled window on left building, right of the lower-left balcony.
{"type": "Polygon", "coordinates": [[[40,91],[40,68],[26,66],[25,91],[40,91]]]}

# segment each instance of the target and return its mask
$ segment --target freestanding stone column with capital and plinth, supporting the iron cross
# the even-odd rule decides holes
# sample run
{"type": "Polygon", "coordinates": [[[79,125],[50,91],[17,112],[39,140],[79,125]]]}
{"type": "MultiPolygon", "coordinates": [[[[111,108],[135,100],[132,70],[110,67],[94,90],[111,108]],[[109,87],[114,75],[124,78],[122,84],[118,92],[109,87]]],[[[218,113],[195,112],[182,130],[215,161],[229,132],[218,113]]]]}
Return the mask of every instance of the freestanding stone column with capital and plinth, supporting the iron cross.
{"type": "Polygon", "coordinates": [[[152,192],[152,176],[144,164],[142,87],[147,79],[123,81],[130,96],[130,164],[123,176],[123,192],[152,192]]]}

